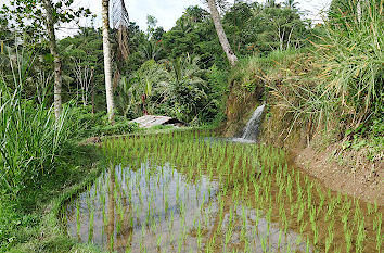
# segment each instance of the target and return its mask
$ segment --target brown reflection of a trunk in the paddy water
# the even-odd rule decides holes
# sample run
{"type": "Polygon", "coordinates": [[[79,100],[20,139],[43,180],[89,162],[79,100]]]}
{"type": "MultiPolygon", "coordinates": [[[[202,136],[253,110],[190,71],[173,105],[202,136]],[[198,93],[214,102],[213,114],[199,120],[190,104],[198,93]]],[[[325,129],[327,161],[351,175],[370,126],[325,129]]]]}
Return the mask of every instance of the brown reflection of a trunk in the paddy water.
{"type": "MultiPolygon", "coordinates": [[[[117,220],[121,222],[121,228],[116,235],[116,241],[115,241],[115,202],[117,201],[115,199],[115,169],[114,166],[111,165],[110,168],[110,186],[108,186],[108,204],[107,204],[107,215],[108,215],[108,222],[106,224],[106,236],[107,236],[107,243],[110,251],[124,251],[126,248],[131,246],[132,242],[132,226],[130,224],[130,219],[128,217],[121,217],[120,214],[117,214],[117,220]],[[124,219],[123,219],[124,218],[124,219]]],[[[118,198],[118,195],[117,195],[118,198]]],[[[129,203],[127,202],[127,199],[123,199],[123,206],[128,210],[128,214],[130,214],[131,208],[129,203]]]]}

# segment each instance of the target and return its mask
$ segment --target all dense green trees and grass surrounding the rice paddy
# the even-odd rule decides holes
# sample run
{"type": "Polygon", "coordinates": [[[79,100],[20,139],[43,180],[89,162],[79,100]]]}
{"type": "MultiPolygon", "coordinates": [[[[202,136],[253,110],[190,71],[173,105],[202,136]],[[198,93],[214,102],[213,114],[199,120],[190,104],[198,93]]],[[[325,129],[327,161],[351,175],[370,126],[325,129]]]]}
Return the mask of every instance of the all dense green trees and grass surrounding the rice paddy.
{"type": "Polygon", "coordinates": [[[141,132],[130,121],[146,114],[223,128],[233,110],[228,98],[253,96],[282,110],[287,129],[309,124],[324,144],[383,159],[383,0],[333,0],[316,24],[294,0],[210,0],[238,59],[233,66],[208,5],[187,8],[170,30],[148,15],[141,30],[124,16],[129,1],[112,0],[108,38],[89,26],[56,39],[55,27],[92,13],[73,0],[9,2],[0,9],[1,252],[17,252],[21,243],[76,250],[64,236],[43,245],[39,238],[55,233],[52,213],[61,207],[52,200],[95,177],[99,151],[79,143],[141,132]]]}

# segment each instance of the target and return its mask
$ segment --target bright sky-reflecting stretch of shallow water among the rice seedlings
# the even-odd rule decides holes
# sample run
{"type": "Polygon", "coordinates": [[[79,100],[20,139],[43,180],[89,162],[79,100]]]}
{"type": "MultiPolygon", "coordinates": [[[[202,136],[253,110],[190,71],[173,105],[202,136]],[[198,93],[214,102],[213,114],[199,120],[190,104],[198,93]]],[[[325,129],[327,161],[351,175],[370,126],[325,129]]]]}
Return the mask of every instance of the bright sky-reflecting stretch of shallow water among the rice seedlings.
{"type": "Polygon", "coordinates": [[[117,252],[197,252],[221,226],[227,238],[215,252],[243,249],[244,241],[252,252],[305,251],[298,235],[283,233],[244,203],[218,200],[219,190],[204,175],[187,181],[170,163],[113,166],[67,206],[68,233],[117,252]]]}

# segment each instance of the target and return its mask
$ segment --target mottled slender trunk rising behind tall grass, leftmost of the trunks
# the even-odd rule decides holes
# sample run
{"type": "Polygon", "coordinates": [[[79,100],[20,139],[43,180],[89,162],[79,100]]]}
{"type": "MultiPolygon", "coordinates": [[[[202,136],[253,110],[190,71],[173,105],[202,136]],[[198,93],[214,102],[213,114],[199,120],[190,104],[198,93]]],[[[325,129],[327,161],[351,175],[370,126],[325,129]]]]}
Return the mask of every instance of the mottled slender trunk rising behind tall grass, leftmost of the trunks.
{"type": "Polygon", "coordinates": [[[49,46],[51,54],[53,55],[53,66],[54,66],[54,115],[59,119],[62,112],[62,62],[60,59],[56,36],[54,34],[54,18],[51,0],[43,0],[46,9],[46,25],[49,38],[49,46]]]}

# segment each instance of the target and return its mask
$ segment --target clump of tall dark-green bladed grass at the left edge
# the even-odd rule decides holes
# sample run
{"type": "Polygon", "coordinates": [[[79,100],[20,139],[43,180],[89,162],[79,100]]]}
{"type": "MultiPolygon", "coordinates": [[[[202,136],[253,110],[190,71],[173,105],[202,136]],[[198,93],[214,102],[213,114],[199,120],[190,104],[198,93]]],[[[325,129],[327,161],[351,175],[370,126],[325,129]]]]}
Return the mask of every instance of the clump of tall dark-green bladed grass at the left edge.
{"type": "Polygon", "coordinates": [[[42,176],[54,173],[73,135],[68,107],[64,106],[56,121],[46,99],[38,103],[36,98],[26,98],[23,86],[31,62],[20,63],[24,61],[20,59],[17,67],[12,65],[12,84],[0,79],[0,190],[13,200],[39,187],[42,176]]]}

